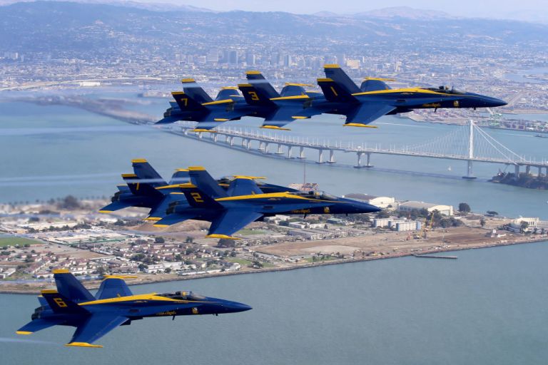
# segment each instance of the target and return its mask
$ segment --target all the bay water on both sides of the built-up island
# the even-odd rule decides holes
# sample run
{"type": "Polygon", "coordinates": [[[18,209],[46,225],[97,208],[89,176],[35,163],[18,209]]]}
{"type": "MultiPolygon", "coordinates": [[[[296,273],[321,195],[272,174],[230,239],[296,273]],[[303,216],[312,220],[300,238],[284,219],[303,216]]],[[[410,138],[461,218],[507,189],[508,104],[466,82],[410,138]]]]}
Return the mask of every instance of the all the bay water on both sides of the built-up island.
{"type": "MultiPolygon", "coordinates": [[[[166,108],[158,101],[141,110],[166,108]]],[[[73,108],[0,104],[0,201],[66,194],[110,195],[132,158],[164,175],[204,165],[214,175],[302,180],[303,165],[138,128],[73,108]]],[[[240,125],[256,125],[243,120],[240,125]]],[[[456,127],[386,117],[377,130],[342,128],[320,117],[293,123],[293,135],[350,143],[417,144],[456,127]]],[[[491,133],[491,132],[489,132],[491,133]]],[[[546,140],[492,131],[517,152],[541,157],[546,140]]],[[[315,158],[309,155],[309,158],[315,158]]],[[[337,155],[352,164],[354,156],[337,155]]],[[[309,164],[307,180],[336,194],[367,192],[477,211],[548,218],[547,192],[464,181],[464,164],[374,156],[377,168],[444,173],[448,178],[309,164]],[[452,170],[448,167],[451,165],[452,170]]],[[[475,166],[480,178],[496,165],[475,166]]],[[[501,167],[504,168],[504,167],[501,167]]],[[[68,349],[71,328],[31,337],[14,331],[37,306],[31,295],[0,295],[0,364],[545,364],[548,358],[547,242],[458,252],[458,260],[402,258],[314,269],[150,284],[136,293],[191,289],[254,309],[219,317],[148,319],[111,332],[103,349],[68,349]],[[33,342],[39,341],[39,342],[33,342]]]]}

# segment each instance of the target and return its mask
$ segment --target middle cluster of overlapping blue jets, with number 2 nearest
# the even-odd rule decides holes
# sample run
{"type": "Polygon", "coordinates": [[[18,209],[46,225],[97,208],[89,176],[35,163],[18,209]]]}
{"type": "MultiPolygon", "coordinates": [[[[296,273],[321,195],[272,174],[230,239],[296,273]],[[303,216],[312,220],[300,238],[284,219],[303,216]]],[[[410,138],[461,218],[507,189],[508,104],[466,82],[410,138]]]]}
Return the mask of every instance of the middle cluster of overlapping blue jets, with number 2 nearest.
{"type": "Polygon", "coordinates": [[[215,180],[203,167],[176,170],[169,183],[143,159],[132,161],[133,173],[122,174],[111,204],[99,212],[146,207],[146,220],[167,227],[185,220],[211,222],[210,238],[238,240],[235,232],[264,217],[308,214],[353,214],[380,211],[365,202],[326,192],[300,190],[258,181],[256,176],[234,175],[215,180]]]}

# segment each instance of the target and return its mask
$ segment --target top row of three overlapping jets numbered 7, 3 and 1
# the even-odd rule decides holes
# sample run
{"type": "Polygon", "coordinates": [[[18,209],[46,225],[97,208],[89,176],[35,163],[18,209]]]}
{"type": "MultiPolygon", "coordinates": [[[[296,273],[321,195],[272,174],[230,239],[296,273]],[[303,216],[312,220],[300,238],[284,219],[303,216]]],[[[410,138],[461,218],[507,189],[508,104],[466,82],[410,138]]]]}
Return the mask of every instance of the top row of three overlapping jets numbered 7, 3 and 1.
{"type": "Polygon", "coordinates": [[[458,91],[455,88],[396,88],[390,78],[365,78],[361,85],[352,81],[338,65],[324,66],[325,78],[318,78],[322,92],[305,89],[308,84],[286,83],[278,93],[259,71],[246,73],[247,83],[221,88],[215,100],[193,78],[185,78],[183,91],[174,91],[171,108],[156,124],[178,120],[198,122],[197,132],[214,128],[244,116],[263,118],[261,128],[288,130],[293,120],[319,114],[344,115],[345,126],[369,127],[382,115],[407,113],[415,109],[492,108],[507,103],[497,98],[458,91]]]}

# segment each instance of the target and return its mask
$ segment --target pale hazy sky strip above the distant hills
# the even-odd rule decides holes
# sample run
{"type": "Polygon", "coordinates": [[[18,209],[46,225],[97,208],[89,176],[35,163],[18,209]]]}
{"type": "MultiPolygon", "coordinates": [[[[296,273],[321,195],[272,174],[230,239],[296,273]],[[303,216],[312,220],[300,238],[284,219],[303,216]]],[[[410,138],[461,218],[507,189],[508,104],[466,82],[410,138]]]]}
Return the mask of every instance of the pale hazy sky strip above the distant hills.
{"type": "Polygon", "coordinates": [[[288,11],[310,14],[318,11],[357,13],[389,6],[411,6],[418,9],[445,11],[452,15],[482,18],[512,18],[548,22],[548,0],[136,0],[174,2],[213,10],[288,11]]]}

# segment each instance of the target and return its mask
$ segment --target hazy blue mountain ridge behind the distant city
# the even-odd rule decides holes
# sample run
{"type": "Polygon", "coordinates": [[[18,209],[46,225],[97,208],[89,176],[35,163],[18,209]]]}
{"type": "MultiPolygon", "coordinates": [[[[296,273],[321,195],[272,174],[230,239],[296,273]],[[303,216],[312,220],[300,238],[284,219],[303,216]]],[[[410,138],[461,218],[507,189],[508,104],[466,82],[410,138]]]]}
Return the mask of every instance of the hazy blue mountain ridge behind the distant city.
{"type": "Polygon", "coordinates": [[[470,40],[512,46],[545,46],[548,40],[548,26],[542,24],[454,18],[430,11],[418,11],[419,16],[405,7],[340,16],[173,6],[151,11],[132,7],[132,2],[119,4],[36,1],[0,6],[0,51],[89,57],[157,48],[173,54],[227,45],[268,47],[276,41],[304,47],[309,54],[325,54],[327,49],[363,54],[372,46],[454,51],[452,45],[469,46],[470,40]]]}

